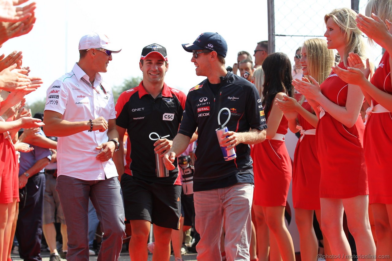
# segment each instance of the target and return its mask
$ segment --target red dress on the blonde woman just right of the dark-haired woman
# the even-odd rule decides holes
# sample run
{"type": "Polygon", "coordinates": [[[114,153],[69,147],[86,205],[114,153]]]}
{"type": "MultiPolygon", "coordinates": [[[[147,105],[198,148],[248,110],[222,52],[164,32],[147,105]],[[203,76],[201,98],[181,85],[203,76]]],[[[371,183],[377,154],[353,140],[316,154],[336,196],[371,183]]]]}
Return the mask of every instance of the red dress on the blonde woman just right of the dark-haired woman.
{"type": "MultiPolygon", "coordinates": [[[[302,107],[312,112],[307,100],[302,107]]],[[[305,131],[316,130],[298,114],[298,125],[305,131]]],[[[294,151],[292,195],[294,208],[320,209],[320,163],[317,158],[316,136],[301,134],[294,151]]]]}

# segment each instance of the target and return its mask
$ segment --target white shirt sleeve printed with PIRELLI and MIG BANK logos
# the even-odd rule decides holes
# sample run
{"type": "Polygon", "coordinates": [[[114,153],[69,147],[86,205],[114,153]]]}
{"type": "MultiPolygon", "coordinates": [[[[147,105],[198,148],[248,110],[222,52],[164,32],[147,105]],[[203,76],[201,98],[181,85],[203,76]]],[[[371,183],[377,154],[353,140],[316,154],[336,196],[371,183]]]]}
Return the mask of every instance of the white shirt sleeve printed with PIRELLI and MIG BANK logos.
{"type": "Polygon", "coordinates": [[[45,111],[55,111],[64,114],[68,103],[68,90],[64,82],[56,80],[46,91],[45,111]]]}

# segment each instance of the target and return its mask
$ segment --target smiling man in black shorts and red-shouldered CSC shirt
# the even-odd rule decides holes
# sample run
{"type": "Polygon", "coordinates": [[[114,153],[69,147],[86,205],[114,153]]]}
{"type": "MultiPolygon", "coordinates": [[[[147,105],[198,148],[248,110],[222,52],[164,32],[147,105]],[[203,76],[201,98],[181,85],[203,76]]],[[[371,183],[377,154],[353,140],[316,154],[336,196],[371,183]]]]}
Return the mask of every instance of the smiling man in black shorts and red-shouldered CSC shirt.
{"type": "Polygon", "coordinates": [[[130,144],[125,170],[122,145],[114,161],[119,175],[122,175],[125,218],[132,227],[131,260],[147,261],[147,241],[152,223],[155,237],[152,260],[168,261],[171,231],[180,228],[181,180],[177,168],[168,176],[158,177],[155,156],[162,157],[171,148],[186,96],[164,82],[169,64],[162,45],[144,47],[139,65],[143,81],[123,92],[116,103],[120,140],[127,130],[130,144]]]}

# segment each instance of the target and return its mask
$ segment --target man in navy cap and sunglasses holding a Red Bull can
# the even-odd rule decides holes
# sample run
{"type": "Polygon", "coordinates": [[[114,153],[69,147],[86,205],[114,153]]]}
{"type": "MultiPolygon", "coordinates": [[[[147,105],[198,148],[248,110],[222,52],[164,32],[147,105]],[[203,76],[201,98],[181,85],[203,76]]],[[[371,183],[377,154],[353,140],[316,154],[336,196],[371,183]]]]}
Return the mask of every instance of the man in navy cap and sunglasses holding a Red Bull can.
{"type": "Polygon", "coordinates": [[[203,33],[193,44],[182,46],[193,54],[196,75],[207,79],[188,93],[180,130],[164,155],[165,165],[174,168],[174,158],[187,148],[197,127],[193,176],[195,227],[200,234],[197,259],[221,260],[224,220],[227,259],[249,260],[254,179],[248,144],[264,141],[267,128],[260,96],[254,84],[226,71],[227,44],[220,34],[203,33]],[[230,112],[220,113],[223,108],[230,112]],[[220,122],[230,116],[225,125],[229,131],[221,135],[221,142],[216,137],[219,115],[220,122]],[[225,161],[221,147],[235,147],[236,158],[225,161]]]}

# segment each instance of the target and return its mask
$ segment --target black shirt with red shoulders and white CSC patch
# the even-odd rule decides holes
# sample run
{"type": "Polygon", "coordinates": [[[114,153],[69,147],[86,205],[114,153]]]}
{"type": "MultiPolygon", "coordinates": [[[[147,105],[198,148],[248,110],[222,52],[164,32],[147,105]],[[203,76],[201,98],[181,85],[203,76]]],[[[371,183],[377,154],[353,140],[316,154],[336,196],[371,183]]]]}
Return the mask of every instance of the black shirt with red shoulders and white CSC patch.
{"type": "MultiPolygon", "coordinates": [[[[169,135],[173,140],[177,134],[185,108],[183,92],[163,84],[162,93],[155,99],[146,92],[143,82],[123,92],[116,103],[116,124],[128,132],[125,173],[145,181],[181,185],[178,169],[171,170],[169,177],[157,178],[155,174],[154,143],[149,135],[169,135]]],[[[152,138],[158,138],[152,135],[152,138]]],[[[177,167],[177,160],[174,161],[177,167]]]]}

